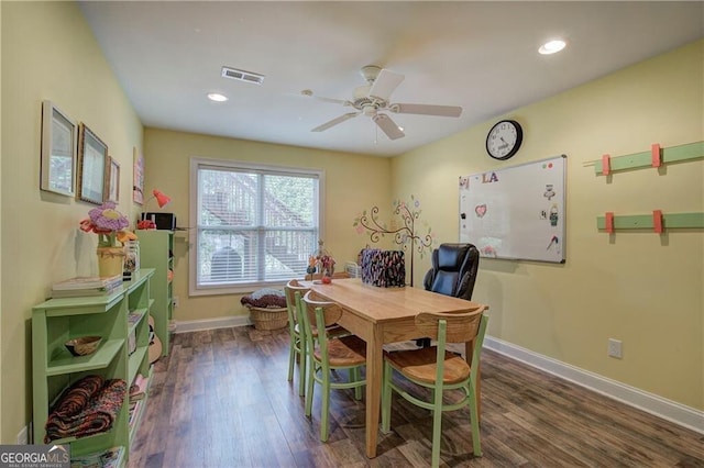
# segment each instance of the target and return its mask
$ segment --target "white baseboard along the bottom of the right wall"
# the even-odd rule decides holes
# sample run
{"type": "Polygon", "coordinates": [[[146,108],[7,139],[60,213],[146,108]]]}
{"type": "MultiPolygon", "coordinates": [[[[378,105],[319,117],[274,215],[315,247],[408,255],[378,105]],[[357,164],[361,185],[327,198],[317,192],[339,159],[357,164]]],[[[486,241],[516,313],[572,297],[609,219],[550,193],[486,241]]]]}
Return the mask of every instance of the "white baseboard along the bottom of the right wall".
{"type": "Polygon", "coordinates": [[[704,411],[667,400],[588,370],[539,355],[520,346],[486,336],[484,347],[519,360],[553,376],[569,380],[622,403],[642,410],[663,420],[704,434],[704,411]]]}

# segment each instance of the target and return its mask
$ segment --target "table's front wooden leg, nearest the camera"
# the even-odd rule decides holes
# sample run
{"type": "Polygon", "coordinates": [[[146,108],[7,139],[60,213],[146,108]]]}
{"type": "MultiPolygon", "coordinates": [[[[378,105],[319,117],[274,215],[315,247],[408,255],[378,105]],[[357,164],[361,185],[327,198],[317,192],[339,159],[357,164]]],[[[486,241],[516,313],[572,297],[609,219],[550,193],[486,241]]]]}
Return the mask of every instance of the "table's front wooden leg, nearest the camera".
{"type": "Polygon", "coordinates": [[[381,411],[384,348],[382,333],[374,328],[366,342],[366,456],[376,457],[378,419],[381,411]]]}

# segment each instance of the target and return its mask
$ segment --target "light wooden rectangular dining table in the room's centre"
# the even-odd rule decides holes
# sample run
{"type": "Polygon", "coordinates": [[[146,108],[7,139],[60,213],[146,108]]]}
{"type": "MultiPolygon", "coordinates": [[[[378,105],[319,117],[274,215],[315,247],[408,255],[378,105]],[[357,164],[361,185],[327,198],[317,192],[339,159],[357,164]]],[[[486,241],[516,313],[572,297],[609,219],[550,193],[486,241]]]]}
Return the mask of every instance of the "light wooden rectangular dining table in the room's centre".
{"type": "MultiPolygon", "coordinates": [[[[424,289],[380,288],[359,278],[333,279],[324,285],[304,282],[319,297],[337,302],[343,310],[339,324],[366,342],[366,456],[376,457],[384,344],[420,338],[415,317],[420,312],[463,312],[480,304],[424,289]]],[[[466,359],[472,358],[472,344],[466,345],[466,359]]],[[[479,392],[479,382],[477,382],[479,392]]],[[[479,400],[479,394],[477,394],[479,400]]]]}

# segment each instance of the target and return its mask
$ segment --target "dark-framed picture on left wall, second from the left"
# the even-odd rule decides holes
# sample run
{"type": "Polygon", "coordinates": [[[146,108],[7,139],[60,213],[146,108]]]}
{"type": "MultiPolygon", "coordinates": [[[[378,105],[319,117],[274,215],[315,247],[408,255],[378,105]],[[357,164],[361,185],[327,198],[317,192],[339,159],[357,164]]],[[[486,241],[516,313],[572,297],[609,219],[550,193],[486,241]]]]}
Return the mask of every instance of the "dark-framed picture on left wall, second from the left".
{"type": "Polygon", "coordinates": [[[101,204],[106,197],[108,145],[84,123],[78,132],[78,199],[101,204]]]}

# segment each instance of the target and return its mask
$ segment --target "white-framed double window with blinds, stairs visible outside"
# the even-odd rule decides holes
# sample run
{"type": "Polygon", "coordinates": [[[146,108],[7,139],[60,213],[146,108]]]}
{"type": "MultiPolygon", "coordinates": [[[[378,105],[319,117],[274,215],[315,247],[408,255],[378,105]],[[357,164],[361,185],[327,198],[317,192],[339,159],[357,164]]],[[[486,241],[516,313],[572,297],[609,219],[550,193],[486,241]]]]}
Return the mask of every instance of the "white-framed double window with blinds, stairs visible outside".
{"type": "Polygon", "coordinates": [[[321,237],[322,171],[193,158],[190,174],[191,296],[306,275],[321,237]]]}

